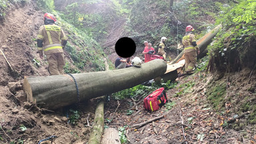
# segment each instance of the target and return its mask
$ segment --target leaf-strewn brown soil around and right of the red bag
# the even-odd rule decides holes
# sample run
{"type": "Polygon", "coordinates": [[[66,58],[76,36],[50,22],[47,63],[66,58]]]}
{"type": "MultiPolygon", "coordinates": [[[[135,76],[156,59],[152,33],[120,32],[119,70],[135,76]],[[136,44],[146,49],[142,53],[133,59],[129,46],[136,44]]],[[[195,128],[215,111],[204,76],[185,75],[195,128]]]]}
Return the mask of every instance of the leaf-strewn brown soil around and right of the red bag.
{"type": "MultiPolygon", "coordinates": [[[[241,79],[239,77],[241,73],[237,73],[232,77],[241,79]]],[[[111,121],[109,126],[118,128],[127,125],[126,135],[129,143],[253,143],[251,141],[256,139],[255,125],[245,125],[245,127],[240,127],[236,130],[231,129],[232,125],[245,123],[245,117],[248,115],[245,114],[245,117],[236,119],[228,124],[225,123],[225,121],[230,121],[234,115],[241,116],[244,114],[235,110],[239,109],[239,107],[235,106],[235,103],[227,103],[223,113],[219,113],[207,101],[207,85],[213,79],[214,75],[205,75],[205,73],[178,78],[179,85],[177,88],[167,91],[168,99],[175,102],[175,106],[171,110],[167,110],[167,107],[162,107],[158,111],[148,112],[145,111],[141,102],[138,105],[139,113],[136,113],[135,109],[133,109],[135,112],[132,115],[126,115],[127,109],[131,108],[129,106],[131,101],[121,101],[121,107],[115,113],[115,119],[111,121]],[[194,81],[195,85],[189,89],[187,94],[176,97],[175,93],[181,90],[179,86],[183,85],[183,83],[189,83],[189,81],[194,81]],[[153,131],[152,123],[139,129],[130,127],[161,115],[165,117],[155,121],[157,134],[153,131]]],[[[231,85],[243,85],[243,87],[229,87],[228,91],[230,93],[227,94],[227,97],[232,97],[232,99],[239,101],[239,97],[234,97],[234,93],[243,93],[242,97],[249,95],[254,99],[255,103],[255,93],[245,90],[251,87],[252,83],[246,84],[246,81],[238,83],[237,79],[232,81],[231,85]]],[[[249,79],[247,78],[247,80],[249,79]]],[[[107,108],[111,109],[106,115],[108,119],[113,117],[116,107],[117,101],[107,104],[107,108]]]]}

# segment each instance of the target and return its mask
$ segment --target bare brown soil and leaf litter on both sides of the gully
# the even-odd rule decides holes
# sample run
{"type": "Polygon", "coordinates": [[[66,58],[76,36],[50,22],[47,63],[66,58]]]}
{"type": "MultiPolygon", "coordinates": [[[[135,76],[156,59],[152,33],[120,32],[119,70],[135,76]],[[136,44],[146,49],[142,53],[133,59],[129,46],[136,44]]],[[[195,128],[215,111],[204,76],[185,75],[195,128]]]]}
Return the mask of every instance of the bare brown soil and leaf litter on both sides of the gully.
{"type": "MultiPolygon", "coordinates": [[[[93,126],[97,99],[56,111],[40,109],[35,103],[26,102],[23,92],[24,77],[49,75],[46,61],[36,53],[34,39],[43,24],[43,12],[35,7],[33,1],[25,6],[13,7],[0,25],[0,48],[11,67],[19,74],[11,73],[9,65],[0,54],[0,143],[13,141],[34,144],[53,135],[56,137],[52,143],[56,144],[86,143],[93,126]],[[39,61],[41,65],[37,65],[35,61],[39,61]]],[[[69,61],[68,57],[65,59],[69,61]]],[[[248,73],[241,71],[226,77],[237,79],[229,85],[227,96],[236,92],[255,98],[254,91],[247,91],[250,87],[247,82],[256,80],[255,73],[250,77],[248,73]]],[[[154,112],[145,111],[142,99],[137,99],[137,111],[131,109],[133,105],[130,99],[111,99],[105,103],[104,113],[105,119],[113,120],[106,120],[105,127],[123,127],[128,143],[255,143],[255,125],[231,129],[229,123],[225,123],[229,118],[241,115],[234,113],[235,103],[227,103],[223,113],[219,113],[207,101],[207,86],[214,77],[213,74],[196,73],[176,79],[177,88],[167,90],[168,99],[175,105],[171,106],[169,102],[154,112]],[[195,85],[187,89],[187,93],[175,95],[189,81],[194,81],[195,85]],[[133,110],[133,114],[127,115],[127,109],[133,110]],[[131,127],[161,115],[164,117],[155,121],[156,132],[153,131],[152,123],[139,128],[131,127]]],[[[222,79],[226,81],[225,77],[222,79]]],[[[241,97],[236,95],[234,99],[239,101],[241,97]]],[[[238,116],[239,119],[230,124],[243,123],[247,117],[246,112],[245,117],[238,116]]]]}

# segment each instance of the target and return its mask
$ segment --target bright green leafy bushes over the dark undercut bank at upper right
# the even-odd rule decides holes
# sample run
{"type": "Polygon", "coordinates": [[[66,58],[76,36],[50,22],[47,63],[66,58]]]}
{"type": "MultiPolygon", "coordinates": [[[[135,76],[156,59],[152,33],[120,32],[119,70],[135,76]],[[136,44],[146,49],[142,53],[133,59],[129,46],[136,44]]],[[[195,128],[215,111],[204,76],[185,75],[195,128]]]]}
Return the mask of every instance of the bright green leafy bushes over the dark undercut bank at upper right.
{"type": "Polygon", "coordinates": [[[239,67],[253,68],[256,50],[251,44],[255,41],[256,3],[241,1],[236,5],[221,6],[217,24],[223,29],[217,34],[215,43],[209,47],[211,61],[218,71],[237,71],[239,67]]]}

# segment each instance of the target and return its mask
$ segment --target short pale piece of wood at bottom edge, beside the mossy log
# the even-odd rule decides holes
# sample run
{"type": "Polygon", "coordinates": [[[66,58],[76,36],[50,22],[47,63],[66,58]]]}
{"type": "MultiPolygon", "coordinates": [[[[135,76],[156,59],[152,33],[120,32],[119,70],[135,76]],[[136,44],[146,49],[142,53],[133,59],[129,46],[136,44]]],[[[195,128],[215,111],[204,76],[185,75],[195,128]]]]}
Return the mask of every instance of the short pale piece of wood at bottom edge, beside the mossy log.
{"type": "Polygon", "coordinates": [[[118,131],[114,128],[104,129],[101,144],[121,144],[118,131]]]}

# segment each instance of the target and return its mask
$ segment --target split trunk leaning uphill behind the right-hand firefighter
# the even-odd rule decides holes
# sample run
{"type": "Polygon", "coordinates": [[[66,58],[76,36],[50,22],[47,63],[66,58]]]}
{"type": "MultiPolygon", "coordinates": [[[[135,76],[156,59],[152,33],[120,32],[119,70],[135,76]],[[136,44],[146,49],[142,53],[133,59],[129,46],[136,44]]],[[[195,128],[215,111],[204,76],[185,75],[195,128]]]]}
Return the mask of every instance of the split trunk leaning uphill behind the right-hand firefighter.
{"type": "MultiPolygon", "coordinates": [[[[209,33],[207,33],[206,35],[204,35],[203,37],[201,37],[201,39],[199,39],[197,41],[197,45],[200,49],[200,51],[205,51],[205,49],[207,48],[207,45],[209,45],[213,39],[213,37],[215,37],[215,35],[218,33],[219,29],[221,28],[221,25],[218,25],[217,27],[215,27],[212,31],[210,31],[209,33]]],[[[176,59],[174,59],[173,61],[171,61],[171,64],[177,63],[179,61],[181,61],[182,59],[185,59],[185,57],[183,56],[184,51],[182,51],[177,57],[176,59]]],[[[199,57],[201,57],[201,54],[199,54],[199,57]]]]}

